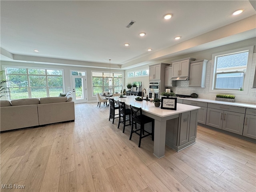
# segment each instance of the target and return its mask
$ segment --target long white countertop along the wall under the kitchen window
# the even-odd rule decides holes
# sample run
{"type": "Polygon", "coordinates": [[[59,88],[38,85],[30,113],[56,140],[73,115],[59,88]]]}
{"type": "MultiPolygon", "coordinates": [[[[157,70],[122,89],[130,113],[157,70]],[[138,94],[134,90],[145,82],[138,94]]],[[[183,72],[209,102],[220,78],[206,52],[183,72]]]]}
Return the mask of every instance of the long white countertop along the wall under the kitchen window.
{"type": "Polygon", "coordinates": [[[199,102],[207,102],[207,103],[215,103],[215,104],[223,104],[223,105],[230,105],[230,106],[237,106],[237,107],[247,107],[247,108],[256,109],[256,104],[216,101],[216,100],[203,99],[203,98],[180,98],[179,97],[178,99],[190,100],[190,101],[199,101],[199,102]]]}

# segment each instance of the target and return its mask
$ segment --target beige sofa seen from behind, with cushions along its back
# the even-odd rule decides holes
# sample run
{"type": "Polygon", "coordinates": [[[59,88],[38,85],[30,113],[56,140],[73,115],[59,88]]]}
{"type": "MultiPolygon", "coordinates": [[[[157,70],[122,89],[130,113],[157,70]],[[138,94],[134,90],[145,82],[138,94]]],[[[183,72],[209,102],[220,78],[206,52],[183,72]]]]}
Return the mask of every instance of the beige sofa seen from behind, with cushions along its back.
{"type": "Polygon", "coordinates": [[[74,121],[72,92],[66,96],[0,101],[0,131],[74,121]]]}

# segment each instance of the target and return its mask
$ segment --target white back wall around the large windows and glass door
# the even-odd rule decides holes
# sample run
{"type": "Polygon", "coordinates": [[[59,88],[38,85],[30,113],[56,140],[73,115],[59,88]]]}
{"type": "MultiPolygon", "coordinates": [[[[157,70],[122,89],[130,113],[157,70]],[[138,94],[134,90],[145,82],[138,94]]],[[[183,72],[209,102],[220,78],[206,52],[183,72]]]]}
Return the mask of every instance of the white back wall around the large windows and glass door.
{"type": "MultiPolygon", "coordinates": [[[[1,61],[1,70],[4,70],[2,66],[24,66],[24,67],[40,67],[40,68],[54,68],[54,69],[63,69],[64,70],[64,92],[68,91],[68,87],[72,87],[72,81],[70,76],[70,70],[74,71],[86,71],[87,77],[87,92],[88,98],[87,102],[95,102],[97,101],[96,96],[92,96],[92,71],[98,72],[109,72],[108,69],[100,69],[100,68],[88,68],[88,67],[72,67],[72,66],[61,66],[61,65],[48,65],[48,64],[32,64],[32,63],[22,63],[22,62],[7,62],[1,61]]],[[[108,66],[106,66],[108,68],[108,66]]],[[[124,70],[114,70],[111,69],[111,72],[122,72],[124,70]]]]}

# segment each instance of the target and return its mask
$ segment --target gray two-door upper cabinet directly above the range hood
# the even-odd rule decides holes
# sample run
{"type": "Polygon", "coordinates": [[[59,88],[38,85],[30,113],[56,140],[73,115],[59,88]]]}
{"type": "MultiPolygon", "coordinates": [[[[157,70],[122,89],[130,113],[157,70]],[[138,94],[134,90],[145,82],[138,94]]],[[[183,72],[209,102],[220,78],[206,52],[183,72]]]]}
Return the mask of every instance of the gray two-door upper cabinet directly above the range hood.
{"type": "Polygon", "coordinates": [[[172,62],[172,77],[188,77],[190,61],[195,58],[186,58],[184,60],[172,62]]]}

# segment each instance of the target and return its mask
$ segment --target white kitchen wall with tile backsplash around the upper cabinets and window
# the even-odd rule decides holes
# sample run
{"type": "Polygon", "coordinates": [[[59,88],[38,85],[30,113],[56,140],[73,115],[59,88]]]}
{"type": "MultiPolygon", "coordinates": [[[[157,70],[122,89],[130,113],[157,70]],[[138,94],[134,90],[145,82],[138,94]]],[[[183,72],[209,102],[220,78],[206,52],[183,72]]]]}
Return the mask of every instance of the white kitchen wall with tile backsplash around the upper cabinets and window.
{"type": "MultiPolygon", "coordinates": [[[[172,63],[173,60],[178,60],[182,58],[196,58],[196,60],[201,60],[201,59],[207,59],[209,60],[207,62],[207,70],[206,70],[206,87],[205,88],[195,88],[195,87],[189,87],[189,81],[176,81],[176,87],[172,87],[171,90],[173,90],[176,94],[184,94],[184,95],[190,95],[191,93],[197,93],[199,95],[199,98],[206,98],[206,99],[212,99],[215,100],[216,93],[211,93],[209,92],[209,85],[210,85],[210,72],[212,68],[212,54],[218,53],[218,52],[224,52],[227,50],[233,50],[233,49],[238,49],[242,47],[247,47],[247,46],[254,46],[254,54],[253,54],[253,60],[252,60],[252,68],[250,72],[247,72],[246,75],[249,75],[250,78],[250,84],[249,86],[249,91],[248,94],[234,94],[236,96],[236,102],[244,102],[244,103],[254,103],[256,104],[256,89],[252,88],[253,80],[254,80],[254,74],[255,74],[255,68],[256,68],[256,38],[244,40],[241,42],[236,42],[232,44],[228,44],[225,46],[220,46],[208,50],[203,50],[200,52],[195,52],[191,54],[186,54],[186,55],[181,55],[175,58],[170,58],[168,60],[163,60],[162,62],[164,63],[172,63]]],[[[148,65],[141,66],[138,68],[133,68],[132,70],[126,70],[125,75],[126,77],[128,76],[128,72],[134,71],[134,70],[139,70],[142,68],[146,68],[148,65]]],[[[125,82],[132,82],[133,78],[126,78],[125,82]]],[[[147,77],[142,77],[142,78],[135,78],[136,81],[142,81],[142,89],[148,87],[148,76],[147,77]]]]}

